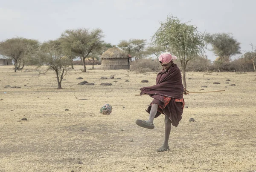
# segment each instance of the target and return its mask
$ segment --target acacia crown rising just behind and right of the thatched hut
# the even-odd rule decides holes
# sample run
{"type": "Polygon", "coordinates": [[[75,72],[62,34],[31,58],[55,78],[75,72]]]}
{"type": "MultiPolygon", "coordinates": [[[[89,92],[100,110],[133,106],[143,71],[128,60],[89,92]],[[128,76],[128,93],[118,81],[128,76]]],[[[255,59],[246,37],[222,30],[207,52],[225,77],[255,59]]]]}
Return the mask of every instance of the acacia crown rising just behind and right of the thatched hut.
{"type": "Polygon", "coordinates": [[[145,54],[146,42],[147,40],[142,39],[121,40],[117,46],[138,60],[145,54]]]}

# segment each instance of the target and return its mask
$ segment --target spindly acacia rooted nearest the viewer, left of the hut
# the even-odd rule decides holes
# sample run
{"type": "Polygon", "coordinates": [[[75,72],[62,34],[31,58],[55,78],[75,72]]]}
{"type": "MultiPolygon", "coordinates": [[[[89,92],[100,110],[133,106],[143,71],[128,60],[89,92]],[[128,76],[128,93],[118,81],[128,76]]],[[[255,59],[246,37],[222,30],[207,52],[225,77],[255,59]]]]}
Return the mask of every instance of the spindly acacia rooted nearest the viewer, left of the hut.
{"type": "MultiPolygon", "coordinates": [[[[70,59],[64,56],[60,40],[50,40],[43,43],[29,58],[29,63],[41,66],[47,65],[47,71],[54,70],[57,76],[58,89],[62,89],[61,81],[67,75],[70,59]]],[[[46,71],[46,72],[47,72],[46,71]]]]}

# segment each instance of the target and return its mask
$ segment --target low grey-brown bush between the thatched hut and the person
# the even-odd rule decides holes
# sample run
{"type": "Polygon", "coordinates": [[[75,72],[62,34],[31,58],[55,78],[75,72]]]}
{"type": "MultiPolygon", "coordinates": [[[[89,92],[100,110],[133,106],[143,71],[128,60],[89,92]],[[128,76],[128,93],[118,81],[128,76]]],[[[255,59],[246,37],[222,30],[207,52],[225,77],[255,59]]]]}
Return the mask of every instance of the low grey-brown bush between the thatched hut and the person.
{"type": "Polygon", "coordinates": [[[131,71],[137,73],[158,72],[162,66],[157,60],[140,59],[131,63],[131,71]]]}

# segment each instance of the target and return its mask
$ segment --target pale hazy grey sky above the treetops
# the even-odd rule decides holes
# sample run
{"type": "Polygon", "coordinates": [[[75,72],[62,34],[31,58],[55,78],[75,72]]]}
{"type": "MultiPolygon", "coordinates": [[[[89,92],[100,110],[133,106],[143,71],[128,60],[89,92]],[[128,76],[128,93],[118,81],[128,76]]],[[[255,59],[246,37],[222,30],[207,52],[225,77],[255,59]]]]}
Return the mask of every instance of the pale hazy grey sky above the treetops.
{"type": "Polygon", "coordinates": [[[255,8],[255,0],[0,0],[0,41],[19,36],[43,42],[66,29],[100,28],[112,44],[149,42],[159,22],[173,14],[201,32],[232,33],[241,50],[250,51],[249,44],[256,45],[255,8]]]}

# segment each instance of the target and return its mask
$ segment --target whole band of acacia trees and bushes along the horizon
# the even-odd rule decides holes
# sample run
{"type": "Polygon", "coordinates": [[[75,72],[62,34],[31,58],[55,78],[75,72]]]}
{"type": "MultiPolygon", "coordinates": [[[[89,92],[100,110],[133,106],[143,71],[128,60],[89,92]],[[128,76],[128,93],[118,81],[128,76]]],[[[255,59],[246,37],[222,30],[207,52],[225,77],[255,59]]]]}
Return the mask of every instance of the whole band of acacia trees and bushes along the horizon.
{"type": "MultiPolygon", "coordinates": [[[[232,71],[256,72],[256,47],[241,54],[240,43],[230,33],[201,33],[188,22],[181,22],[169,15],[152,36],[150,43],[145,39],[120,40],[117,45],[106,43],[101,29],[70,29],[64,31],[56,40],[39,43],[38,40],[14,37],[0,42],[0,54],[14,61],[14,71],[25,65],[48,66],[57,76],[58,88],[69,69],[74,69],[74,59],[80,58],[80,64],[86,72],[86,65],[100,64],[100,56],[109,48],[119,47],[133,58],[133,63],[151,57],[158,59],[163,52],[178,57],[178,65],[183,73],[183,85],[186,88],[186,71],[232,71]],[[211,61],[205,55],[207,45],[216,55],[211,61]],[[241,54],[236,60],[233,55],[241,54]]],[[[75,64],[78,64],[76,62],[75,64]]],[[[154,68],[155,69],[155,68],[154,68]]]]}

